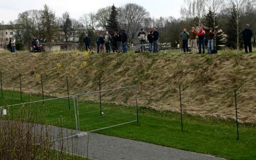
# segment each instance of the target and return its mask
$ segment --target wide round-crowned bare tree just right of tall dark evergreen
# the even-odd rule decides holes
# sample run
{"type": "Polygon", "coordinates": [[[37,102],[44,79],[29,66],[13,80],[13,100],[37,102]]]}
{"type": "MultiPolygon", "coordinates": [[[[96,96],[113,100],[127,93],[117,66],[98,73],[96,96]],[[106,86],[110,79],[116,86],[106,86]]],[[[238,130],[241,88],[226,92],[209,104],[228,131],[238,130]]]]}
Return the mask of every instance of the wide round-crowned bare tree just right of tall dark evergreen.
{"type": "Polygon", "coordinates": [[[149,16],[149,12],[138,4],[128,3],[119,8],[118,22],[126,30],[129,42],[132,43],[143,21],[149,16]]]}

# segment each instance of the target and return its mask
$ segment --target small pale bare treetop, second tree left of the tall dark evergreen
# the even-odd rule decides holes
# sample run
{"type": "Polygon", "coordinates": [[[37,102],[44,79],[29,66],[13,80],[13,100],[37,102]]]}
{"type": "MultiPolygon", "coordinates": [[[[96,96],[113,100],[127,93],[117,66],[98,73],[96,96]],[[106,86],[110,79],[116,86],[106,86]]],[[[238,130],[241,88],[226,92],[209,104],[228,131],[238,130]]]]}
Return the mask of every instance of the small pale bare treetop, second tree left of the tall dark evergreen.
{"type": "Polygon", "coordinates": [[[88,14],[83,14],[80,17],[80,22],[85,25],[85,28],[87,30],[94,30],[97,24],[97,16],[93,12],[90,12],[88,14]]]}

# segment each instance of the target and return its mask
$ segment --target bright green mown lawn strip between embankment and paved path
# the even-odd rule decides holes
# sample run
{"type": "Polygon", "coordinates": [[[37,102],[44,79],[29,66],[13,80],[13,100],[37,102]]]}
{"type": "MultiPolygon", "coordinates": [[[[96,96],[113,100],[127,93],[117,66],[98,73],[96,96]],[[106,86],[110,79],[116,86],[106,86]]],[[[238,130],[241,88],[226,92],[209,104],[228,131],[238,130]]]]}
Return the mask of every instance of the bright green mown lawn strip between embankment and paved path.
{"type": "MultiPolygon", "coordinates": [[[[0,105],[10,104],[8,98],[12,93],[4,91],[4,98],[0,98],[0,105]],[[8,97],[8,98],[6,98],[8,97]]],[[[19,103],[19,93],[14,93],[16,99],[12,104],[19,103]]],[[[23,94],[24,101],[40,100],[23,94]]],[[[76,129],[73,99],[57,99],[46,101],[45,105],[35,103],[32,105],[8,107],[8,116],[13,112],[12,118],[16,118],[19,109],[32,117],[37,117],[36,122],[42,124],[63,126],[76,129]]],[[[135,107],[102,104],[103,116],[100,116],[98,102],[79,101],[79,120],[82,131],[100,129],[119,123],[136,120],[135,107]]],[[[256,159],[256,127],[239,126],[240,141],[236,139],[236,123],[227,121],[214,121],[199,117],[183,115],[183,132],[180,125],[180,114],[160,112],[146,107],[138,108],[139,123],[136,122],[99,130],[96,133],[123,137],[132,140],[144,141],[152,144],[173,147],[192,152],[199,152],[219,156],[231,160],[255,160],[256,159]]]]}

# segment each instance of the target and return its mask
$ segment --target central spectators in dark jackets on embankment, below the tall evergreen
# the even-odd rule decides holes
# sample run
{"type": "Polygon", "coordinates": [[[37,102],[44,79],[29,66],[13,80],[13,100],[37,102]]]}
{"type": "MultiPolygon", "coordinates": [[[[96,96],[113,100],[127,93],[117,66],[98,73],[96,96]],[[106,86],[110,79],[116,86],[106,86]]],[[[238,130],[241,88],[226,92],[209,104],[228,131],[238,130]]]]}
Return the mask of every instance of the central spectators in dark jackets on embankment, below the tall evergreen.
{"type": "MultiPolygon", "coordinates": [[[[105,35],[102,35],[99,32],[97,32],[97,36],[96,36],[97,53],[104,53],[104,45],[106,48],[106,53],[111,52],[111,47],[112,47],[112,52],[114,53],[126,53],[128,51],[127,38],[128,37],[125,30],[122,30],[121,33],[118,31],[114,31],[113,36],[111,36],[108,31],[106,31],[105,35]]],[[[148,43],[149,44],[148,51],[150,53],[159,52],[158,38],[159,38],[159,33],[156,27],[154,27],[154,29],[151,30],[147,36],[146,36],[146,33],[144,32],[144,29],[141,29],[141,31],[138,33],[138,39],[140,41],[140,51],[145,52],[146,43],[148,43]],[[143,50],[143,46],[144,46],[144,50],[143,50]]],[[[86,51],[90,50],[91,39],[88,34],[85,34],[84,43],[85,43],[85,50],[86,51]]]]}

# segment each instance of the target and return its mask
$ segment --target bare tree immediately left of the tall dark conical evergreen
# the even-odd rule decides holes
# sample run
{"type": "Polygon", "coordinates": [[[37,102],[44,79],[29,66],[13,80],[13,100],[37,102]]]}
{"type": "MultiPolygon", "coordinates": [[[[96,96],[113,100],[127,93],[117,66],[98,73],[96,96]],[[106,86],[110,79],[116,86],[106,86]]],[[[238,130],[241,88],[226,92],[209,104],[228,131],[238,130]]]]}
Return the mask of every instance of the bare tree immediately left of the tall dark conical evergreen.
{"type": "Polygon", "coordinates": [[[98,21],[98,24],[96,27],[102,27],[103,29],[106,30],[107,20],[110,17],[110,13],[111,13],[111,6],[99,9],[98,12],[96,13],[97,21],[98,21]]]}

